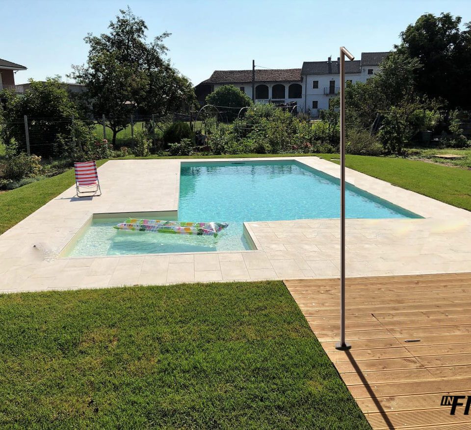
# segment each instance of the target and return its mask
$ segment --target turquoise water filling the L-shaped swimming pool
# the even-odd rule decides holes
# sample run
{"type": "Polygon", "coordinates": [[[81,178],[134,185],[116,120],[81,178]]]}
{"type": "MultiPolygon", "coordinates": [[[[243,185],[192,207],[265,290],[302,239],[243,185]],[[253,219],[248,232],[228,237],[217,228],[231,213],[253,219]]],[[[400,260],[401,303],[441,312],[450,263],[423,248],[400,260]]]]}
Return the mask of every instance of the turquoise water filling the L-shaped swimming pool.
{"type": "MultiPolygon", "coordinates": [[[[420,218],[346,186],[348,218],[420,218]]],[[[70,256],[237,251],[250,249],[244,221],[339,218],[339,180],[295,161],[182,162],[180,221],[228,222],[217,238],[117,231],[122,218],[97,219],[70,256]]]]}

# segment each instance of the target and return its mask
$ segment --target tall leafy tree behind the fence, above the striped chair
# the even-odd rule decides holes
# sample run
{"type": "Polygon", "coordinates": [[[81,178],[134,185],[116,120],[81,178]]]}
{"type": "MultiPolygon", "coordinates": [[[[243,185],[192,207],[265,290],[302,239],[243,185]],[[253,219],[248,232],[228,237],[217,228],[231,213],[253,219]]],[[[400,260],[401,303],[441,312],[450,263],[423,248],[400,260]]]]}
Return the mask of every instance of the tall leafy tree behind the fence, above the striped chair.
{"type": "Polygon", "coordinates": [[[110,22],[108,34],[88,34],[86,65],[72,66],[71,76],[87,87],[95,117],[105,115],[116,134],[137,110],[163,117],[188,107],[195,99],[191,83],[171,67],[162,33],[147,41],[146,23],[131,9],[120,10],[110,22]]]}

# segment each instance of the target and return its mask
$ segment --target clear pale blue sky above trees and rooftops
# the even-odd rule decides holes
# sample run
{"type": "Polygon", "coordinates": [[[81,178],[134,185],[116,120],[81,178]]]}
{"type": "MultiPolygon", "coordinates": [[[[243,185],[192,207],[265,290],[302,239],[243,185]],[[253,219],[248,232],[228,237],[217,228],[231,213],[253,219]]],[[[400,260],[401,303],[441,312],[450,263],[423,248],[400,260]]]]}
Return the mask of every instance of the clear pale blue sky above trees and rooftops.
{"type": "Polygon", "coordinates": [[[28,68],[16,83],[71,71],[86,61],[88,32],[106,32],[120,8],[131,6],[153,37],[166,40],[174,67],[194,84],[213,70],[299,68],[303,61],[387,51],[423,13],[451,12],[471,21],[470,0],[0,0],[0,58],[28,68]]]}

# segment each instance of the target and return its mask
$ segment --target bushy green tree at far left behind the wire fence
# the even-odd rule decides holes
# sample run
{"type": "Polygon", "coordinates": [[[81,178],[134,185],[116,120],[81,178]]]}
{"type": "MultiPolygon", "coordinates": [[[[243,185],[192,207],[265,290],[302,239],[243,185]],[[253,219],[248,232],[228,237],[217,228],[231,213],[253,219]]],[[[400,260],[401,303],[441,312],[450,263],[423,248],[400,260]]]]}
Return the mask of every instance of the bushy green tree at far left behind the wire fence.
{"type": "Polygon", "coordinates": [[[28,131],[33,153],[40,156],[62,155],[58,138],[71,139],[72,117],[78,121],[78,110],[68,92],[61,86],[60,77],[45,82],[29,80],[29,90],[23,95],[5,91],[5,105],[1,111],[4,143],[12,139],[19,150],[26,150],[24,116],[28,117],[28,131]]]}

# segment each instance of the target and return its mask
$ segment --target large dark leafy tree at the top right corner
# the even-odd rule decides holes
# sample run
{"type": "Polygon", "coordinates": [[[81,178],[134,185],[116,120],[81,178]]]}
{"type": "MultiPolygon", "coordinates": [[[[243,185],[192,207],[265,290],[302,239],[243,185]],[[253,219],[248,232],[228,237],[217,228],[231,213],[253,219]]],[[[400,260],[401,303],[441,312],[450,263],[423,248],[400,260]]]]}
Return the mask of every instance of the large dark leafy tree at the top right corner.
{"type": "Polygon", "coordinates": [[[446,100],[450,108],[471,108],[471,23],[449,13],[427,13],[401,33],[399,52],[418,59],[417,89],[446,100]]]}

